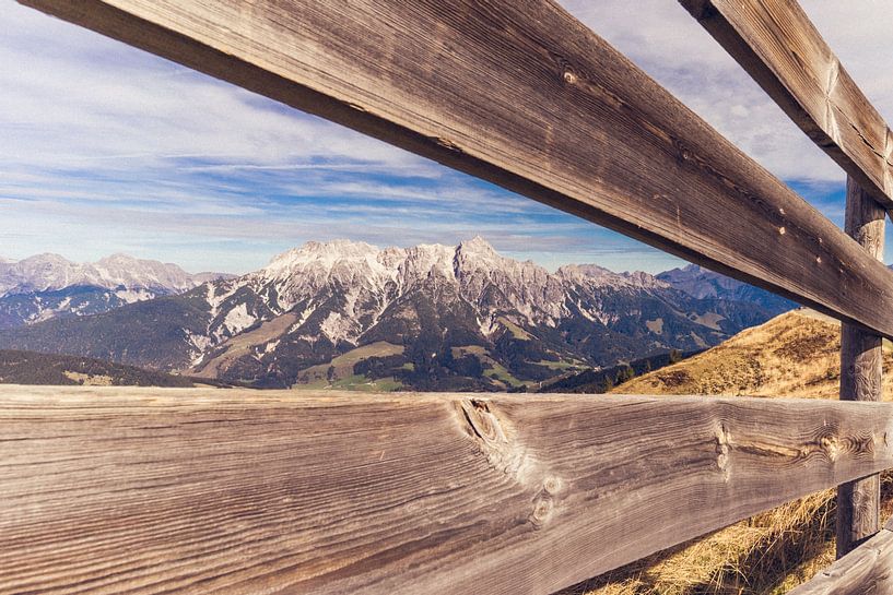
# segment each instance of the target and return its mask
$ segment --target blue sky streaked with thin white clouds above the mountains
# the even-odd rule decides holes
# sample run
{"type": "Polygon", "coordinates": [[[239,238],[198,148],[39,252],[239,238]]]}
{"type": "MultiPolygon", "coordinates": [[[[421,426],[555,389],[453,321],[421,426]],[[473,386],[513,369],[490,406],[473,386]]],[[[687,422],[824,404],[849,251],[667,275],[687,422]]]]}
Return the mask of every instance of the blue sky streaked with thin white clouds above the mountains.
{"type": "MultiPolygon", "coordinates": [[[[562,4],[843,224],[843,171],[675,0],[562,4]]],[[[889,47],[893,1],[801,4],[893,121],[893,55],[879,49],[889,47]]],[[[684,264],[13,0],[0,0],[0,210],[9,259],[126,252],[243,273],[308,240],[455,245],[480,235],[549,269],[684,264]]]]}

